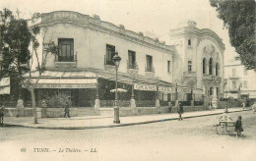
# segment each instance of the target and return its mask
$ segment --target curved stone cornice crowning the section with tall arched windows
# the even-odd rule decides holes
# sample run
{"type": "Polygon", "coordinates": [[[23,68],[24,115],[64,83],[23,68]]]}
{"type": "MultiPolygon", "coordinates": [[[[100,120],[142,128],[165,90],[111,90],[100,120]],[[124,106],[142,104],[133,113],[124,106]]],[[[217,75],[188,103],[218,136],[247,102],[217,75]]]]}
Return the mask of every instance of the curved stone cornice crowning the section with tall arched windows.
{"type": "Polygon", "coordinates": [[[180,27],[176,29],[170,29],[169,36],[170,38],[174,36],[179,37],[183,34],[191,34],[191,33],[196,34],[198,37],[206,37],[206,36],[213,37],[219,43],[220,47],[224,50],[223,39],[220,38],[216,32],[208,28],[198,29],[197,27],[180,27]]]}

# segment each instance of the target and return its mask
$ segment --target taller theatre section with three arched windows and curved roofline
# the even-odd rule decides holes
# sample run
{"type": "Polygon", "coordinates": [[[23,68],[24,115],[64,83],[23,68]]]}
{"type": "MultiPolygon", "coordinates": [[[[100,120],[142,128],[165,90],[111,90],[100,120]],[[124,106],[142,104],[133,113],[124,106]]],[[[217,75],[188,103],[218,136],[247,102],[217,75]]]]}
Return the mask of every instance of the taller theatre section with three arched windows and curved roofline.
{"type": "MultiPolygon", "coordinates": [[[[174,46],[173,79],[202,96],[219,98],[224,92],[224,43],[214,31],[199,29],[193,21],[181,23],[169,32],[174,46]]],[[[190,95],[191,96],[191,95],[190,95]]]]}

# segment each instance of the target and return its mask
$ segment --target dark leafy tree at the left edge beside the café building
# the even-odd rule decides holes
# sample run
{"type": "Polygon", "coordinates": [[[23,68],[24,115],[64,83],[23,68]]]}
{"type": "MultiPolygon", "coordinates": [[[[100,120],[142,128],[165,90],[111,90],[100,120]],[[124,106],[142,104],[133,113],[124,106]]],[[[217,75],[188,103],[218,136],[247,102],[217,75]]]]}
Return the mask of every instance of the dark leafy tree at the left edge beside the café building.
{"type": "Polygon", "coordinates": [[[0,11],[0,57],[1,78],[11,77],[11,93],[21,94],[21,80],[24,69],[21,64],[30,59],[32,34],[26,20],[15,17],[9,9],[0,11]]]}

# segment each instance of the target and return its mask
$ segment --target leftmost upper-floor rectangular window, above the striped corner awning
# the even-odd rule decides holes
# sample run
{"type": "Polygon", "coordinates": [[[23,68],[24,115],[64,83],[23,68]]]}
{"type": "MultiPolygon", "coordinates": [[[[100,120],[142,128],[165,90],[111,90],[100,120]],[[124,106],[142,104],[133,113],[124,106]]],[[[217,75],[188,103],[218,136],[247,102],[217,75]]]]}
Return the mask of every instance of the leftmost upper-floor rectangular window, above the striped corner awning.
{"type": "Polygon", "coordinates": [[[59,62],[74,62],[74,39],[73,38],[58,38],[59,44],[59,62]]]}

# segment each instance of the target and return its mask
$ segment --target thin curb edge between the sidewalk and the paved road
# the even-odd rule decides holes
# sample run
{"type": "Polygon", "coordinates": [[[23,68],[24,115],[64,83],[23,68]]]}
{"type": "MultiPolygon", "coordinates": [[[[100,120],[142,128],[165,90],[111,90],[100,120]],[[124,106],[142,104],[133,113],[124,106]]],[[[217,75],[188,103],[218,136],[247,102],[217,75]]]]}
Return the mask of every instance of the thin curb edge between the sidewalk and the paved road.
{"type": "MultiPolygon", "coordinates": [[[[242,111],[250,111],[250,110],[238,110],[238,111],[232,111],[232,112],[228,112],[228,113],[242,112],[242,111]]],[[[218,113],[214,113],[214,114],[187,116],[187,117],[183,117],[183,119],[190,119],[190,118],[197,118],[197,117],[204,117],[204,116],[212,116],[212,115],[220,115],[222,113],[223,112],[218,112],[218,113]]],[[[137,122],[137,123],[126,123],[126,124],[117,124],[117,125],[108,125],[108,126],[95,126],[95,127],[39,127],[39,126],[38,127],[33,127],[33,126],[14,125],[14,124],[4,124],[4,127],[22,127],[22,128],[48,129],[48,130],[89,130],[89,129],[102,129],[102,128],[135,126],[135,125],[151,124],[151,123],[158,123],[158,122],[165,122],[165,121],[172,121],[172,120],[178,120],[178,118],[160,119],[160,120],[153,120],[153,121],[145,121],[145,122],[137,122]]]]}

